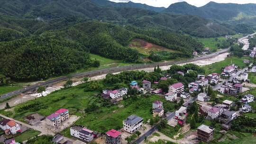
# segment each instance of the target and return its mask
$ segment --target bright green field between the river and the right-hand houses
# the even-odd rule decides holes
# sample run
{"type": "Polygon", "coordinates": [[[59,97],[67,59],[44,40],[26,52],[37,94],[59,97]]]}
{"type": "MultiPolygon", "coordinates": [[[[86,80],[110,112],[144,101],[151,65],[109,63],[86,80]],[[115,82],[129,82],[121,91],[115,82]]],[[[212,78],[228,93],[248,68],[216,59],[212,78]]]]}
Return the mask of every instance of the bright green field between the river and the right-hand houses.
{"type": "Polygon", "coordinates": [[[221,73],[221,69],[230,64],[237,64],[239,68],[244,68],[246,66],[246,64],[243,62],[244,59],[251,60],[250,57],[247,56],[242,58],[233,56],[226,58],[224,61],[206,65],[203,68],[205,69],[205,74],[210,74],[213,72],[221,73]]]}

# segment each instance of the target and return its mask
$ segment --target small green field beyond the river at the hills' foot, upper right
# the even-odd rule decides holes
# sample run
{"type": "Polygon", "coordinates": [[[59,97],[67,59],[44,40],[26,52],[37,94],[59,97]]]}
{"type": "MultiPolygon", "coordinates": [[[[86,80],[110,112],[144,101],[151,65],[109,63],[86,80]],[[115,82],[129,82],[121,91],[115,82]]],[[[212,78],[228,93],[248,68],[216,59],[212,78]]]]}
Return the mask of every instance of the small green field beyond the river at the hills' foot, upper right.
{"type": "Polygon", "coordinates": [[[215,40],[214,37],[210,37],[210,38],[199,38],[199,37],[196,37],[196,39],[201,42],[204,47],[209,47],[210,50],[217,50],[217,44],[219,44],[221,41],[224,41],[226,38],[221,36],[221,37],[218,37],[218,41],[215,40]]]}

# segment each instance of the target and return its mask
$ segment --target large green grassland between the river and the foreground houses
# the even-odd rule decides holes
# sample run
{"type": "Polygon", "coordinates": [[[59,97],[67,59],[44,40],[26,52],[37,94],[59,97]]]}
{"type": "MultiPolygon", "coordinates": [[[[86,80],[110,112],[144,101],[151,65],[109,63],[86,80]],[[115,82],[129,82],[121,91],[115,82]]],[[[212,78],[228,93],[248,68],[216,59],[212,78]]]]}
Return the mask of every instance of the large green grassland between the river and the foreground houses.
{"type": "MultiPolygon", "coordinates": [[[[157,95],[152,95],[147,98],[138,97],[136,100],[131,98],[123,100],[120,103],[123,105],[122,108],[119,108],[117,105],[105,107],[105,100],[101,96],[95,96],[95,94],[100,94],[100,92],[84,92],[83,84],[81,84],[20,104],[14,107],[15,114],[3,110],[1,113],[24,121],[24,117],[29,114],[39,113],[43,116],[48,116],[59,108],[67,108],[70,114],[81,116],[75,124],[87,126],[94,131],[106,132],[111,128],[120,129],[122,121],[132,114],[143,117],[147,121],[152,117],[152,102],[155,100],[163,101],[165,110],[168,111],[173,111],[176,105],[173,102],[167,102],[164,98],[160,98],[157,95]],[[92,110],[90,113],[84,113],[84,109],[91,107],[93,103],[99,108],[92,110]]],[[[70,136],[69,129],[64,131],[63,134],[70,136]]]]}

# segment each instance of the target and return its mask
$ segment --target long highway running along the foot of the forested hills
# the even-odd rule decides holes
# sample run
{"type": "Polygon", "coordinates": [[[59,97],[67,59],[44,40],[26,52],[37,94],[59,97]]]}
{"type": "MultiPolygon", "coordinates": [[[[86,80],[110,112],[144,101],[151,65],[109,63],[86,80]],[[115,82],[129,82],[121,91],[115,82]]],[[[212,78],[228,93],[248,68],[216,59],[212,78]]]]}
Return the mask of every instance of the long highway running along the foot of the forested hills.
{"type": "MultiPolygon", "coordinates": [[[[115,67],[115,68],[108,68],[108,69],[101,69],[101,70],[94,70],[94,71],[90,71],[90,72],[80,72],[80,73],[75,73],[73,75],[71,75],[72,78],[77,78],[77,77],[92,77],[92,76],[97,76],[97,75],[102,75],[102,74],[107,74],[107,73],[114,73],[114,72],[122,72],[122,71],[129,71],[129,70],[138,70],[138,69],[145,69],[145,68],[153,68],[155,67],[155,65],[159,65],[159,66],[168,66],[168,65],[173,65],[173,64],[181,64],[181,63],[190,63],[190,62],[194,62],[194,61],[199,61],[199,60],[205,60],[205,59],[209,59],[212,57],[216,57],[219,54],[223,54],[223,53],[227,53],[229,51],[229,48],[220,50],[219,52],[213,53],[213,54],[209,54],[209,55],[205,55],[205,56],[201,56],[201,57],[195,57],[192,59],[188,59],[188,60],[182,60],[182,61],[174,61],[174,62],[163,62],[163,63],[149,63],[149,64],[135,64],[135,65],[127,65],[127,66],[120,66],[120,67],[115,67]]],[[[49,81],[45,81],[39,84],[35,84],[20,90],[15,90],[6,94],[3,94],[0,96],[0,99],[4,99],[4,98],[8,98],[14,95],[18,95],[27,91],[31,91],[31,90],[35,90],[38,87],[41,86],[47,86],[53,83],[58,83],[61,81],[65,81],[67,80],[68,77],[67,76],[63,76],[63,77],[59,77],[59,78],[55,78],[53,80],[49,80],[49,81]]]]}

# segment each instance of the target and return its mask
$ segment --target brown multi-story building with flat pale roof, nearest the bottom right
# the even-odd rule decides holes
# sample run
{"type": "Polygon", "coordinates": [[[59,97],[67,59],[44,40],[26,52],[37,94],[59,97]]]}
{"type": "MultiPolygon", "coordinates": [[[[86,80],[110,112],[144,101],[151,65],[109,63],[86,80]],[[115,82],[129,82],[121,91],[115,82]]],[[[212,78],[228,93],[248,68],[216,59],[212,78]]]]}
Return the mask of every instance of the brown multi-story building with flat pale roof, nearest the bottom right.
{"type": "Polygon", "coordinates": [[[209,143],[213,139],[214,128],[201,125],[197,128],[197,138],[209,143]]]}

